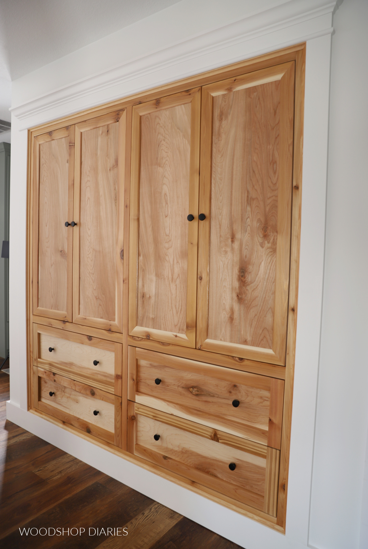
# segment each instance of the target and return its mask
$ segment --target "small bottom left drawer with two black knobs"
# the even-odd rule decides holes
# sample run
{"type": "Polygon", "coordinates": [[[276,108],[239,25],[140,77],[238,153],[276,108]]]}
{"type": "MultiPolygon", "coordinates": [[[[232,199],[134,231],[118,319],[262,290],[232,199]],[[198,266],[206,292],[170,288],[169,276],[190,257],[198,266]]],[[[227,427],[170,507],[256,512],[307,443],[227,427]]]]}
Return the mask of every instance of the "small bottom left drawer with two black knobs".
{"type": "Polygon", "coordinates": [[[38,410],[121,447],[121,397],[43,368],[37,376],[38,410]]]}

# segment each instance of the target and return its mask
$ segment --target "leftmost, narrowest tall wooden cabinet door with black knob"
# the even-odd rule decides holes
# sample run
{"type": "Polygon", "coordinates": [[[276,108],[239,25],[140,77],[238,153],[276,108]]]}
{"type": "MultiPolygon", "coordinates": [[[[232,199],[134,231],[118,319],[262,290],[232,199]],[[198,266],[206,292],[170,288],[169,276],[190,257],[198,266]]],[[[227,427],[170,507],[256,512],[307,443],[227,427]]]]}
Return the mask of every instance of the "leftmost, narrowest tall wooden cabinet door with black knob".
{"type": "Polygon", "coordinates": [[[74,126],[35,137],[33,314],[72,321],[74,126]]]}

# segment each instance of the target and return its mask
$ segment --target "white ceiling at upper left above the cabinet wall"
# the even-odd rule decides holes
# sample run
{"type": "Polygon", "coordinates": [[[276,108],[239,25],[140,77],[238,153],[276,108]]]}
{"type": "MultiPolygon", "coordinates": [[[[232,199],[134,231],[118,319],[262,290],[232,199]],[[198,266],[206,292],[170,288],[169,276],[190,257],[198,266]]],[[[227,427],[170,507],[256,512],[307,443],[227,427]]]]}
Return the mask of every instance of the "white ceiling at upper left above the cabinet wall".
{"type": "Polygon", "coordinates": [[[12,80],[179,1],[0,0],[0,118],[12,80]]]}

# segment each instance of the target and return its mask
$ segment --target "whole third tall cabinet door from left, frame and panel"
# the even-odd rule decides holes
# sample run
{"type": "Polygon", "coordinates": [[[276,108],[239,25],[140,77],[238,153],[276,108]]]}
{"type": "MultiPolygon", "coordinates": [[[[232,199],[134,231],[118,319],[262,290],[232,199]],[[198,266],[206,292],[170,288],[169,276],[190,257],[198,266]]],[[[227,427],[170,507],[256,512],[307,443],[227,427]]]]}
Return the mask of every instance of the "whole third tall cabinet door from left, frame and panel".
{"type": "Polygon", "coordinates": [[[195,346],[200,88],[134,105],[129,334],[195,346]]]}

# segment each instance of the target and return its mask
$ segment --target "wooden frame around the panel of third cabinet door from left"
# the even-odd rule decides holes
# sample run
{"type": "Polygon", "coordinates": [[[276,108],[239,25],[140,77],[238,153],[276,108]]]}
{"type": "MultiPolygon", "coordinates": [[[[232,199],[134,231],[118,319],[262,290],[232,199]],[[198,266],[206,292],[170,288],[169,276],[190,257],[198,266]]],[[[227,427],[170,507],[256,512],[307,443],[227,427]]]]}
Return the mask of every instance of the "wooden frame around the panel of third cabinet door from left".
{"type": "Polygon", "coordinates": [[[198,193],[199,193],[199,141],[200,141],[201,89],[190,89],[140,105],[134,105],[132,117],[131,161],[131,224],[129,232],[129,320],[128,333],[142,337],[184,345],[195,346],[196,293],[197,293],[197,242],[198,242],[198,193]],[[141,116],[154,111],[191,104],[190,161],[189,161],[189,211],[194,220],[188,222],[188,271],[186,286],[186,332],[174,333],[155,328],[138,326],[138,254],[139,254],[139,184],[140,184],[140,125],[141,116]]]}

